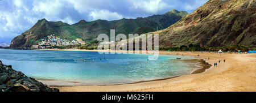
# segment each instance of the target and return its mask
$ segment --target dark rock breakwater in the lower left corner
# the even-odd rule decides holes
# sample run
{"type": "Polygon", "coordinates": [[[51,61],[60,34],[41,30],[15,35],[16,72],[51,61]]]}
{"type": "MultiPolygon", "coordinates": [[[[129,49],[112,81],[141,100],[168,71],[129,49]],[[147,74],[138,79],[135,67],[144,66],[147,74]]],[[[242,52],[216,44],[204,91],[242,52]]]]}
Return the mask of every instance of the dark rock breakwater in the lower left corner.
{"type": "Polygon", "coordinates": [[[59,92],[59,89],[49,88],[0,61],[0,92],[59,92]]]}

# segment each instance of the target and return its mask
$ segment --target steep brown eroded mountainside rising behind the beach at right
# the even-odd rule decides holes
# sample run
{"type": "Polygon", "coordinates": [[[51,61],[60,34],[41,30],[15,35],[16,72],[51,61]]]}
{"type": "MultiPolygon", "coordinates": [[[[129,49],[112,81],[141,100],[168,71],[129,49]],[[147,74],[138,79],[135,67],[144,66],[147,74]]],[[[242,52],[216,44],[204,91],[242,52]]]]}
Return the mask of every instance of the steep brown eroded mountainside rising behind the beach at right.
{"type": "Polygon", "coordinates": [[[161,31],[160,47],[256,45],[255,0],[210,0],[161,31]]]}

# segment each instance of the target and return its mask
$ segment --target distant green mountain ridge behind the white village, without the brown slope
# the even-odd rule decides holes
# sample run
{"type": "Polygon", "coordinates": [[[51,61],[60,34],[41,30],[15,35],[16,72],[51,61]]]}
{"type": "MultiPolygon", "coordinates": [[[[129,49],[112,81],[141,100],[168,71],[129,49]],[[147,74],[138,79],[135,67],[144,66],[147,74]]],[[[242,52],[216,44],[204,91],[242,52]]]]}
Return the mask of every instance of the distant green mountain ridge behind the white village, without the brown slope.
{"type": "Polygon", "coordinates": [[[95,20],[69,25],[63,22],[48,22],[46,19],[38,20],[36,24],[21,35],[14,37],[11,48],[30,47],[38,44],[41,38],[55,34],[56,37],[67,40],[82,38],[84,41],[92,41],[101,33],[110,35],[110,29],[115,29],[115,34],[123,33],[148,33],[158,29],[164,29],[184,18],[185,11],[171,10],[163,15],[152,15],[146,18],[120,19],[120,20],[95,20]]]}

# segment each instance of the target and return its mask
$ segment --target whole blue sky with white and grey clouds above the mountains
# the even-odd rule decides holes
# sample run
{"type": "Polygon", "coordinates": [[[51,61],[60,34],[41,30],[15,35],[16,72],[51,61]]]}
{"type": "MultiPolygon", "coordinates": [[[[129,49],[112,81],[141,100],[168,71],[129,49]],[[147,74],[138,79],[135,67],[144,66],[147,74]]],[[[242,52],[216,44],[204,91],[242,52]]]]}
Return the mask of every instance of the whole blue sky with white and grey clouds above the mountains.
{"type": "Polygon", "coordinates": [[[0,43],[10,43],[39,19],[74,24],[84,19],[118,20],[164,14],[172,9],[193,12],[208,0],[0,0],[0,43]]]}

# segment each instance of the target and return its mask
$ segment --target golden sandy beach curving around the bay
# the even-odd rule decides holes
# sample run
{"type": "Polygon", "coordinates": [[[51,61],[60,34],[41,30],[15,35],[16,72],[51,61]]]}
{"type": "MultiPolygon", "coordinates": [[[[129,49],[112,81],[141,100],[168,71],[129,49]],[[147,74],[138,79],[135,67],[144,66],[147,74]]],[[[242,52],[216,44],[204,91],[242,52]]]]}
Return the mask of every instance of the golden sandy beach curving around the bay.
{"type": "MultiPolygon", "coordinates": [[[[91,51],[97,50],[77,50],[91,51]]],[[[205,58],[212,67],[199,74],[183,75],[176,78],[139,82],[122,85],[75,85],[68,83],[64,87],[51,86],[60,91],[256,91],[256,54],[229,54],[209,52],[163,52],[159,54],[192,55],[205,58]],[[208,57],[210,59],[208,59],[208,57]],[[226,59],[224,63],[223,60],[226,59]],[[218,63],[222,60],[222,63],[218,63]],[[217,62],[214,67],[213,63],[217,62]]],[[[40,80],[51,85],[53,81],[40,80]]]]}

